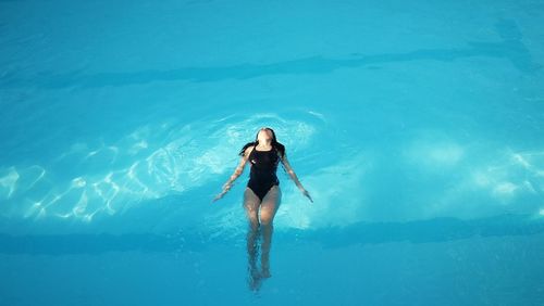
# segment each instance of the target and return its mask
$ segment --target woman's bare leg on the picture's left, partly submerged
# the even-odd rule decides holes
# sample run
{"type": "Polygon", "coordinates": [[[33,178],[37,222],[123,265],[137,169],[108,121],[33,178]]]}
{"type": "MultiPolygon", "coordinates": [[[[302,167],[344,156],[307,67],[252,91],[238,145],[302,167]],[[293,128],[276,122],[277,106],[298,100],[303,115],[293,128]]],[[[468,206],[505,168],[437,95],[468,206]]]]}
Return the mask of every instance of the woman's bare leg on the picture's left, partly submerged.
{"type": "Polygon", "coordinates": [[[257,270],[257,255],[259,253],[257,241],[259,239],[259,204],[260,199],[249,188],[244,192],[244,209],[248,219],[247,230],[247,256],[249,286],[251,290],[258,289],[259,276],[257,270]]]}

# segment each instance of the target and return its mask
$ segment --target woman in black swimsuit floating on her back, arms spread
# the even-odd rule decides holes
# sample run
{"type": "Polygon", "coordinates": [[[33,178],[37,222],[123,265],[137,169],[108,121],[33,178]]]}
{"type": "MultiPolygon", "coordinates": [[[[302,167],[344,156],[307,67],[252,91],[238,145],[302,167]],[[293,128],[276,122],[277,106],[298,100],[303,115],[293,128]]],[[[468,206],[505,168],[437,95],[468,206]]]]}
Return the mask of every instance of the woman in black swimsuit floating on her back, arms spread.
{"type": "Polygon", "coordinates": [[[261,128],[257,133],[256,141],[248,142],[242,148],[239,155],[242,160],[234,174],[223,186],[223,192],[218,194],[213,201],[217,201],[232,188],[233,182],[238,178],[246,163],[251,163],[249,181],[244,191],[244,208],[246,217],[249,220],[247,233],[247,252],[249,264],[249,281],[251,289],[258,289],[260,279],[270,277],[270,243],[272,241],[272,221],[277,212],[282,199],[280,181],[276,177],[277,164],[281,161],[285,170],[293,179],[298,189],[311,202],[308,191],[298,181],[295,171],[290,167],[285,154],[285,146],[276,141],[275,133],[271,128],[261,128]],[[259,214],[260,213],[260,214],[259,214]],[[259,231],[262,231],[262,253],[261,253],[261,272],[257,269],[257,240],[259,231]]]}

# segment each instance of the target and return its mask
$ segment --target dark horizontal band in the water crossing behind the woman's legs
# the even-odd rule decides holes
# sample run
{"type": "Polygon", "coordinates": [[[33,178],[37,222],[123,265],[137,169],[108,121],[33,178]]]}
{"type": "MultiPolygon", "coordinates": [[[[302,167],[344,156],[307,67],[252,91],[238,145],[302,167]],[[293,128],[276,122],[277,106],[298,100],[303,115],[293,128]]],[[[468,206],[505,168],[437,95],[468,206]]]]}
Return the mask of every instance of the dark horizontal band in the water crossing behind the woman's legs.
{"type": "MultiPolygon", "coordinates": [[[[345,228],[286,230],[275,233],[277,243],[314,242],[324,247],[353,244],[447,242],[473,237],[531,235],[544,232],[544,218],[533,215],[502,215],[461,220],[435,218],[408,222],[359,222],[345,228]]],[[[233,240],[198,230],[173,234],[0,234],[0,253],[29,255],[100,254],[104,252],[199,252],[209,245],[233,245],[233,240]]]]}

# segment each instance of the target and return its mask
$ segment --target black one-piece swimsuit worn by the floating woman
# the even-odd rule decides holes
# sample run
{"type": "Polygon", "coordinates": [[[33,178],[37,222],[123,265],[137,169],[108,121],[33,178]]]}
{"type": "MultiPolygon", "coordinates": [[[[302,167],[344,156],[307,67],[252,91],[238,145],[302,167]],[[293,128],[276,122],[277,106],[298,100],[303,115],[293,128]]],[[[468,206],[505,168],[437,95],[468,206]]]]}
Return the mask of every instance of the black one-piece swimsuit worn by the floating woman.
{"type": "Polygon", "coordinates": [[[280,157],[274,148],[270,151],[257,151],[254,146],[248,160],[251,163],[251,170],[247,187],[262,201],[273,186],[280,184],[280,180],[275,175],[280,157]]]}

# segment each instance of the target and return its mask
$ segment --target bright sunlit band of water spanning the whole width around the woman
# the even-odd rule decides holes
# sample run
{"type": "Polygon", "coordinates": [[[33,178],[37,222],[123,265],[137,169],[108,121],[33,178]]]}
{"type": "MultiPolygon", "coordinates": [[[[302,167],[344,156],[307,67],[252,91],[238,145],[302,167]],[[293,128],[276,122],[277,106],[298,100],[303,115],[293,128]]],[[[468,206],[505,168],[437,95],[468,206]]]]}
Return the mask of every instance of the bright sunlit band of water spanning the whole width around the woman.
{"type": "MultiPolygon", "coordinates": [[[[277,126],[279,141],[286,144],[295,169],[319,202],[307,205],[279,169],[287,203],[277,213],[279,227],[473,218],[499,212],[539,215],[543,209],[544,152],[507,148],[489,153],[490,144],[455,140],[436,130],[412,132],[395,146],[386,142],[356,146],[335,139],[338,131],[329,129],[326,120],[322,114],[307,112],[298,119],[261,114],[185,125],[164,123],[140,127],[99,148],[76,143],[49,165],[3,167],[1,212],[7,219],[91,222],[97,214],[122,218],[138,204],[153,205],[156,200],[191,191],[197,192],[191,196],[205,203],[236,166],[238,146],[254,137],[255,126],[263,124],[277,126]],[[331,151],[335,145],[342,150],[331,151]],[[378,203],[397,205],[398,216],[380,209],[378,203]]],[[[232,204],[221,204],[207,215],[210,224],[240,227],[236,217],[240,199],[235,194],[240,193],[246,176],[247,171],[223,201],[232,204]]]]}

